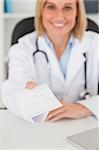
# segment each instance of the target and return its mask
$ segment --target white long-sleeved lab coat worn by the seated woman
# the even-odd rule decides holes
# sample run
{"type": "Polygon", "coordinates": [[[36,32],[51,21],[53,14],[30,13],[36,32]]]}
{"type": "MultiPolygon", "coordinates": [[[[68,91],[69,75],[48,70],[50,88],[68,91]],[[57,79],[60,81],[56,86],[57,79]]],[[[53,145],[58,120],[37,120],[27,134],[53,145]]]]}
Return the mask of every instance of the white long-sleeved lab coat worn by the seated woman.
{"type": "MultiPolygon", "coordinates": [[[[36,32],[19,39],[19,43],[11,47],[9,52],[9,78],[3,84],[3,99],[7,108],[22,116],[17,106],[15,96],[27,81],[47,83],[58,99],[65,102],[80,102],[88,107],[99,118],[99,96],[97,95],[99,82],[99,34],[87,31],[80,42],[75,39],[75,46],[69,59],[66,80],[60,69],[56,56],[49,49],[43,37],[38,38],[39,49],[46,52],[49,63],[44,55],[37,54],[36,64],[33,52],[36,51],[36,32]],[[80,93],[84,90],[84,62],[87,56],[87,87],[92,95],[87,100],[80,100],[80,93]]],[[[27,112],[25,112],[25,115],[27,112]]],[[[25,118],[24,115],[24,118],[25,118]]]]}

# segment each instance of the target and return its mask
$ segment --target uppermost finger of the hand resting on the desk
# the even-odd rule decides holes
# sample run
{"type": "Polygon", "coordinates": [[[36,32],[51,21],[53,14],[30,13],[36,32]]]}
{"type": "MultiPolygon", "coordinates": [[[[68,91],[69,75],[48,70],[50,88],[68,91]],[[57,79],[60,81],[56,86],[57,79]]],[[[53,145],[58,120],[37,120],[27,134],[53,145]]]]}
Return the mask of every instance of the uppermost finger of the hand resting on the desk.
{"type": "Polygon", "coordinates": [[[54,118],[57,114],[60,114],[64,111],[64,107],[60,107],[57,108],[55,110],[52,110],[51,112],[49,112],[48,116],[47,116],[47,120],[50,120],[51,118],[54,118]]]}

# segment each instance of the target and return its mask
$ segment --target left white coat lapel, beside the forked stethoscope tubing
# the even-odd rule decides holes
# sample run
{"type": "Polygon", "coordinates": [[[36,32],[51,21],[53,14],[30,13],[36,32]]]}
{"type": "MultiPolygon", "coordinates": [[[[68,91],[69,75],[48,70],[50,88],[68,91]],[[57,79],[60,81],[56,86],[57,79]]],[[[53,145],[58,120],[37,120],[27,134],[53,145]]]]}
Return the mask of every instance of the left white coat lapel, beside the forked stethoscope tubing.
{"type": "Polygon", "coordinates": [[[43,37],[39,37],[38,43],[39,48],[47,53],[48,59],[50,61],[49,63],[51,65],[51,74],[54,73],[54,75],[60,80],[60,82],[64,84],[64,76],[60,69],[59,62],[56,56],[53,54],[53,51],[50,50],[43,37]]]}

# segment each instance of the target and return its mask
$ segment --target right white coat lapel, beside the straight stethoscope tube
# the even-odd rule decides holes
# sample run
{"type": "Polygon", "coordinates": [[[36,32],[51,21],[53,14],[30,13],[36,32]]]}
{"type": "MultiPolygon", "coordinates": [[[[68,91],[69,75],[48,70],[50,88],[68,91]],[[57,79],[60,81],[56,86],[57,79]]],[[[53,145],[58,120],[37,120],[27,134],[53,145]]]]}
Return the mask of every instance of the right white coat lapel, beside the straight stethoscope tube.
{"type": "Polygon", "coordinates": [[[84,53],[86,53],[84,47],[81,46],[80,42],[75,44],[76,46],[73,48],[71,52],[70,60],[67,68],[67,76],[66,76],[66,87],[68,88],[72,84],[72,80],[75,78],[81,67],[84,65],[85,57],[84,53]]]}

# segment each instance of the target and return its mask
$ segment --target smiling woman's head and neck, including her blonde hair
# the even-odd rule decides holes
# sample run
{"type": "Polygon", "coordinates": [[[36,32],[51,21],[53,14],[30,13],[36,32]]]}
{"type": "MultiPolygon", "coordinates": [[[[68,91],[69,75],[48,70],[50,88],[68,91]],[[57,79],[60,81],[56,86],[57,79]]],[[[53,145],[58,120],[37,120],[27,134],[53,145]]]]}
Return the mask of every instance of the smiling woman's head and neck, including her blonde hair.
{"type": "Polygon", "coordinates": [[[79,0],[37,2],[36,31],[38,35],[47,33],[58,58],[61,57],[67,46],[71,33],[79,39],[83,36],[86,28],[86,18],[82,3],[79,0]]]}

